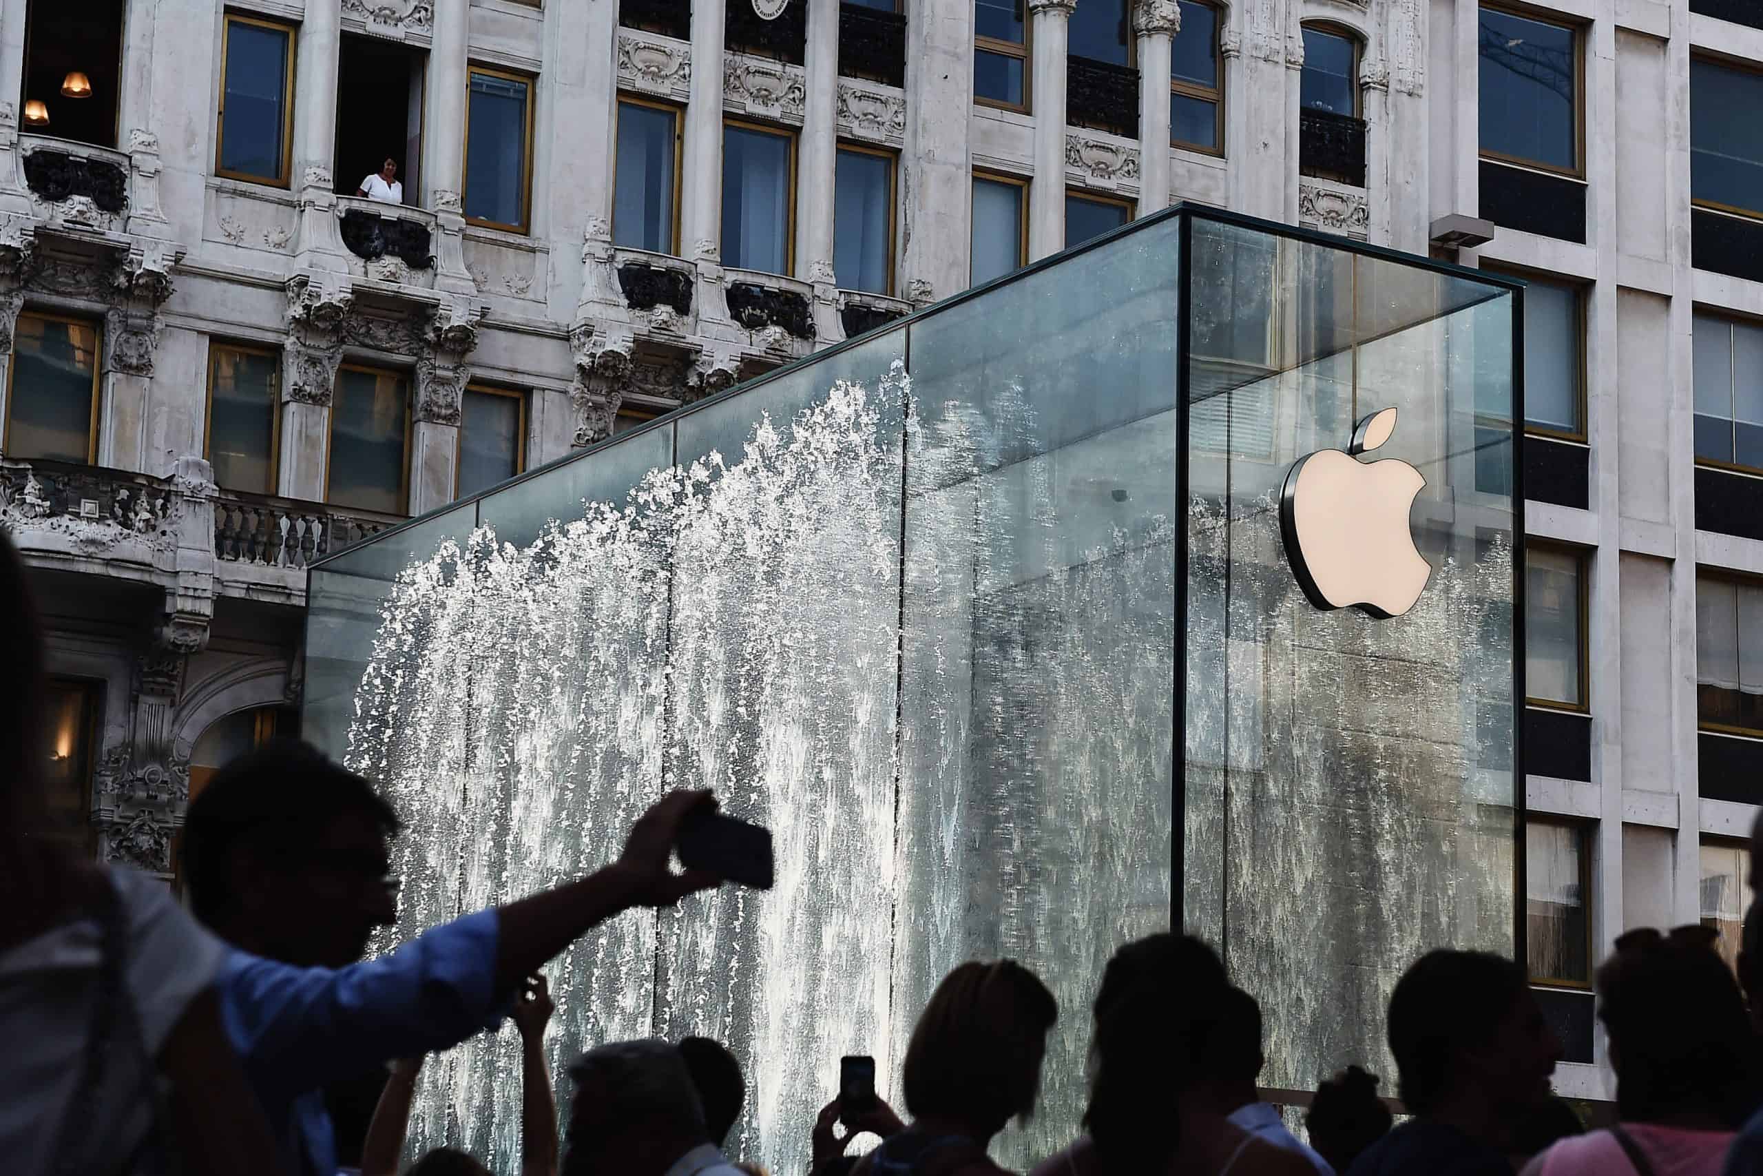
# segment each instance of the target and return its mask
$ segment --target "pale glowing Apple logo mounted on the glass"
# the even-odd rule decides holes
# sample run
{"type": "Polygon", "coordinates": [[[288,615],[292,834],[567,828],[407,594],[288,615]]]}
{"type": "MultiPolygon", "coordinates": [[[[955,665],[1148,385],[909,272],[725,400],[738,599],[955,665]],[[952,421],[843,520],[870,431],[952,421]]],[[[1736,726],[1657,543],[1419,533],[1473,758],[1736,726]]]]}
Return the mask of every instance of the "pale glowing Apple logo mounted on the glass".
{"type": "Polygon", "coordinates": [[[1352,444],[1298,458],[1280,494],[1280,532],[1298,585],[1317,608],[1400,617],[1432,577],[1414,547],[1409,510],[1426,485],[1407,462],[1361,462],[1396,432],[1396,411],[1359,421],[1352,444]]]}

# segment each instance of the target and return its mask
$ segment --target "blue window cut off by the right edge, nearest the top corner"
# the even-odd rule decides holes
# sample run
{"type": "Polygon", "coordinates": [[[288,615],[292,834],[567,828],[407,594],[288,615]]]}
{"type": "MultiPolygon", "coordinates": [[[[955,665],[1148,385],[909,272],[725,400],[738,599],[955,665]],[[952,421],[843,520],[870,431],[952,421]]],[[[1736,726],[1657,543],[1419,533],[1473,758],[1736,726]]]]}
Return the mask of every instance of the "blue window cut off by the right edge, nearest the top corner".
{"type": "Polygon", "coordinates": [[[1763,217],[1763,74],[1689,62],[1689,196],[1763,217]]]}

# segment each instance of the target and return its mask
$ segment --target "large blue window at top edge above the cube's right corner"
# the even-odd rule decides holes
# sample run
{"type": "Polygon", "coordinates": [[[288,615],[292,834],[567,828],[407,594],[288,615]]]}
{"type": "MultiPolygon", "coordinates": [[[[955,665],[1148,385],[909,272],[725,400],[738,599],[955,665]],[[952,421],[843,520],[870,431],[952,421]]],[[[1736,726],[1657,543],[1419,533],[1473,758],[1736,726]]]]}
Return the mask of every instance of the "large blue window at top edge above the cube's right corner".
{"type": "Polygon", "coordinates": [[[1573,30],[1481,9],[1481,150],[1551,167],[1580,162],[1573,30]]]}

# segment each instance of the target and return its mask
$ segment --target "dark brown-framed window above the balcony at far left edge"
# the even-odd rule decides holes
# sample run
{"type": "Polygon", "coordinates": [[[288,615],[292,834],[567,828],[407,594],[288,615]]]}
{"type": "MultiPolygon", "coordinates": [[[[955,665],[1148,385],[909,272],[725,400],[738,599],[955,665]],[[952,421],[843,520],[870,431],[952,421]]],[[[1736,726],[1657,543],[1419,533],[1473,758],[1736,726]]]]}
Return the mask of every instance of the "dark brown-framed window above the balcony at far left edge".
{"type": "Polygon", "coordinates": [[[21,462],[99,460],[99,328],[21,314],[12,330],[12,388],[4,451],[21,462]]]}

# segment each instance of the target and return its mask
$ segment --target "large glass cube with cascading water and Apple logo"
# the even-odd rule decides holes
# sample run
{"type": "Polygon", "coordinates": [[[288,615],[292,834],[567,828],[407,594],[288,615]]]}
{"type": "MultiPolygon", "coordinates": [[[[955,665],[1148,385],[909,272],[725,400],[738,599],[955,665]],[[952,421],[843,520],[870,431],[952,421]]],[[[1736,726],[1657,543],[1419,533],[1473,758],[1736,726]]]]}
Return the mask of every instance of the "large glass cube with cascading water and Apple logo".
{"type": "MultiPolygon", "coordinates": [[[[305,732],[407,822],[381,947],[709,786],[776,889],[585,936],[548,1046],[726,1042],[770,1171],[841,1054],[901,1102],[975,957],[1061,1010],[994,1153],[1061,1146],[1102,968],[1171,926],[1261,998],[1264,1086],[1389,1074],[1416,956],[1520,947],[1520,296],[1172,208],[316,564],[305,732]]],[[[421,1081],[413,1148],[513,1165],[511,1033],[421,1081]]]]}

